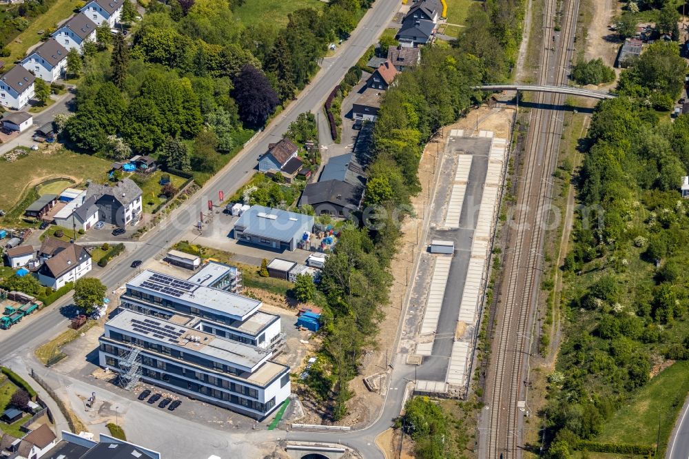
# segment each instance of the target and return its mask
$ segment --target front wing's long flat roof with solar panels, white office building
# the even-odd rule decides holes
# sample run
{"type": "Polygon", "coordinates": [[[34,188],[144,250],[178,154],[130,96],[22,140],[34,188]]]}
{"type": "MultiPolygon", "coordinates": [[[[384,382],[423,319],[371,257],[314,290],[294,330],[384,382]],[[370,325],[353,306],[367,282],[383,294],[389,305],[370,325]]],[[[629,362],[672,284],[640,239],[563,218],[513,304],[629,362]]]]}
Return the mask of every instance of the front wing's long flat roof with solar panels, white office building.
{"type": "Polygon", "coordinates": [[[122,312],[108,320],[105,325],[143,337],[145,340],[153,340],[165,346],[183,347],[187,351],[194,351],[198,354],[214,357],[223,362],[233,363],[251,370],[271,356],[271,351],[266,349],[245,345],[227,338],[220,338],[219,336],[185,327],[184,325],[178,325],[170,320],[139,314],[130,309],[123,309],[122,312]],[[149,331],[143,327],[153,329],[154,331],[149,331]],[[163,338],[158,338],[154,336],[156,329],[169,330],[168,334],[178,336],[178,338],[169,338],[167,335],[163,336],[163,338]],[[187,339],[189,336],[198,336],[200,341],[194,343],[187,339]]]}

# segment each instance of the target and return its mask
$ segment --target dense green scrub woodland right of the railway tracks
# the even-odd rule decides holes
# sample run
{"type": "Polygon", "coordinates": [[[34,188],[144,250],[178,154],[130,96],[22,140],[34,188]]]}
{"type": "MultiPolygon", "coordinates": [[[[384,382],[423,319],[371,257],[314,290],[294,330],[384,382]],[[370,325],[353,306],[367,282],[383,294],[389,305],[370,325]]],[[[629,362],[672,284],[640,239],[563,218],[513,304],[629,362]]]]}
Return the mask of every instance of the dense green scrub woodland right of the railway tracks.
{"type": "MultiPolygon", "coordinates": [[[[689,358],[689,203],[679,192],[689,116],[670,122],[659,111],[677,100],[685,73],[677,43],[648,46],[584,139],[582,207],[562,267],[566,338],[544,412],[553,458],[570,457],[582,440],[591,451],[631,452],[637,445],[597,443],[606,422],[672,360],[689,358]]],[[[655,427],[641,446],[651,443],[655,427]]]]}

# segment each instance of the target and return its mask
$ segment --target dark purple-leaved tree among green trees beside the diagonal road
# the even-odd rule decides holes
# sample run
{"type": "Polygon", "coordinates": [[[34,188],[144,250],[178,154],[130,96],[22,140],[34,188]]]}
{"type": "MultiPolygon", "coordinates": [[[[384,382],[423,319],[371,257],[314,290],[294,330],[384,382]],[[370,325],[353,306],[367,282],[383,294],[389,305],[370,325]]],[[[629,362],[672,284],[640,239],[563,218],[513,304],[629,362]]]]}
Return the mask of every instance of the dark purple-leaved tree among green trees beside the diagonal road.
{"type": "Polygon", "coordinates": [[[265,74],[252,65],[245,65],[234,80],[233,96],[242,121],[256,127],[265,124],[280,102],[265,74]]]}

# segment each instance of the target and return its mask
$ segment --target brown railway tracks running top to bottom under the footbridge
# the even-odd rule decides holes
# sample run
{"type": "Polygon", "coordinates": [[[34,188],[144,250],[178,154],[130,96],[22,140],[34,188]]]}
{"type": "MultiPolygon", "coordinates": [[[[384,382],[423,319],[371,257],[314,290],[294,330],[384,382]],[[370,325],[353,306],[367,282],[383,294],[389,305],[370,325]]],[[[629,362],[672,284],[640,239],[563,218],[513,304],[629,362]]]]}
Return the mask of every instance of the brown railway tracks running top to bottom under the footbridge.
{"type": "MultiPolygon", "coordinates": [[[[568,67],[573,54],[573,38],[579,0],[562,2],[562,31],[554,23],[557,0],[546,0],[544,46],[541,54],[539,84],[567,83],[568,67]],[[551,39],[551,37],[553,37],[551,39]],[[552,41],[551,41],[552,40],[552,41]]],[[[538,94],[537,104],[562,106],[562,94],[538,94]]],[[[499,292],[498,319],[489,374],[486,400],[489,422],[484,427],[486,450],[480,456],[489,459],[519,458],[522,451],[523,412],[518,402],[526,402],[528,391],[528,358],[533,348],[531,329],[537,309],[544,232],[548,222],[548,195],[551,174],[557,165],[562,132],[562,118],[557,110],[532,110],[520,174],[517,207],[508,228],[505,269],[499,292]],[[487,431],[486,431],[487,430],[487,431]]],[[[524,407],[528,410],[528,406],[524,407]]]]}

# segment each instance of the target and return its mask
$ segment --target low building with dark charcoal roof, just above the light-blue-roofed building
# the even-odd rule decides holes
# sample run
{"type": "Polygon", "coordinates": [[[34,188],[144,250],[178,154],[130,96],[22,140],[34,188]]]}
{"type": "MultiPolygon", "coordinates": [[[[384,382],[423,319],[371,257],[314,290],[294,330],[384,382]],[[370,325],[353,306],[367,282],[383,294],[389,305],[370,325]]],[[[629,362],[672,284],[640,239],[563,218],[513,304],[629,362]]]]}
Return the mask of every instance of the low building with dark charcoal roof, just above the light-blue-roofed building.
{"type": "Polygon", "coordinates": [[[364,196],[364,187],[340,180],[309,183],[304,188],[299,207],[309,204],[316,215],[347,217],[359,209],[364,196]]]}

